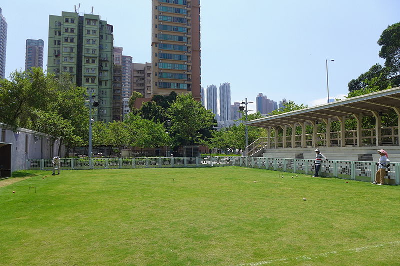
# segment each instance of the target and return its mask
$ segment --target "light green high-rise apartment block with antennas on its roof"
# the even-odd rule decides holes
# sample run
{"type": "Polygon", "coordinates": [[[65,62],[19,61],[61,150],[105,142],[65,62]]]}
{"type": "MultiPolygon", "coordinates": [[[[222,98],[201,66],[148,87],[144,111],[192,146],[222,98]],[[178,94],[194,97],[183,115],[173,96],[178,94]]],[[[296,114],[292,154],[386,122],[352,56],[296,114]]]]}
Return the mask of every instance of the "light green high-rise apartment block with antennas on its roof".
{"type": "Polygon", "coordinates": [[[100,104],[93,118],[112,119],[112,25],[93,14],[50,15],[47,72],[67,72],[100,104]]]}

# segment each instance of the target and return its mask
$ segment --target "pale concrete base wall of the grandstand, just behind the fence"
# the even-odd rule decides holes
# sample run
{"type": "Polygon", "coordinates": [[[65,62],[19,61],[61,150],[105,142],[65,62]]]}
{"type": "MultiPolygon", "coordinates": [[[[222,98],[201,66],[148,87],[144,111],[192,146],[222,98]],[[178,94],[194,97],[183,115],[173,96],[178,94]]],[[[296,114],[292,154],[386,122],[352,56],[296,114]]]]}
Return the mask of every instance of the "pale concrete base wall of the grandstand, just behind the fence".
{"type": "MultiPolygon", "coordinates": [[[[321,153],[329,160],[358,161],[360,155],[371,154],[374,162],[378,161],[379,154],[376,150],[384,149],[389,155],[390,162],[400,162],[399,146],[381,147],[320,147],[321,153]]],[[[263,157],[269,158],[295,158],[296,154],[303,154],[304,159],[315,159],[315,148],[286,148],[264,149],[263,157]]]]}

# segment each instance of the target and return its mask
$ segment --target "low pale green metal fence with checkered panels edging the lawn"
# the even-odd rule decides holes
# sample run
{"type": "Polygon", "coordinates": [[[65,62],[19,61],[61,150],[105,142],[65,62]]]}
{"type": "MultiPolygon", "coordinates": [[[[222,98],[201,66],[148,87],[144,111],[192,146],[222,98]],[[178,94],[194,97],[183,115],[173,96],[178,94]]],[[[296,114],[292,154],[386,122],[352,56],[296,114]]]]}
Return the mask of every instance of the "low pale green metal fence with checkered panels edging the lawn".
{"type": "MultiPolygon", "coordinates": [[[[118,168],[166,168],[166,167],[218,167],[241,166],[289,173],[313,174],[312,159],[288,159],[267,157],[206,156],[206,157],[140,157],[140,158],[93,158],[61,159],[61,170],[118,169],[118,168]]],[[[27,170],[52,170],[51,159],[27,159],[27,170]]],[[[374,162],[325,161],[321,165],[322,177],[337,177],[371,182],[375,178],[374,162]]],[[[400,163],[390,163],[385,183],[398,185],[400,163]]]]}

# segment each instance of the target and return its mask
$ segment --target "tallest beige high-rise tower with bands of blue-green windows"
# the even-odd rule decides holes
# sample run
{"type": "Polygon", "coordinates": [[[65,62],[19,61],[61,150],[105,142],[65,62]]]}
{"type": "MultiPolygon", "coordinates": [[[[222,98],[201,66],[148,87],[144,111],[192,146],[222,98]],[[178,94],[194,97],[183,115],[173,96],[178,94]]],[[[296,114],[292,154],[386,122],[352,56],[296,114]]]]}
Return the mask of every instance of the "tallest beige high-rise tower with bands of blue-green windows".
{"type": "Polygon", "coordinates": [[[200,90],[200,0],[151,0],[151,95],[200,90]]]}

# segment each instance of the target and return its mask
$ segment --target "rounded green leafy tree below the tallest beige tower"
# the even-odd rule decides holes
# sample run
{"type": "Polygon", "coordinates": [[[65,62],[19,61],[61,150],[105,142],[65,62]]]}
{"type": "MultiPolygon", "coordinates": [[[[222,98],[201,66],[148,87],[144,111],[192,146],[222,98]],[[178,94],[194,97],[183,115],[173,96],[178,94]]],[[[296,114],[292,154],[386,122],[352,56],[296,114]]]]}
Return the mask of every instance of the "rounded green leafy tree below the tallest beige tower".
{"type": "Polygon", "coordinates": [[[171,120],[171,133],[177,143],[182,145],[202,144],[205,141],[202,129],[216,127],[214,114],[205,110],[191,94],[180,94],[167,109],[171,120]]]}

